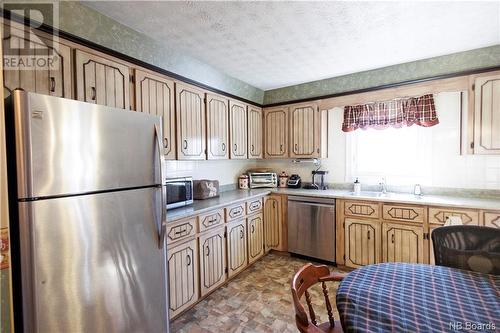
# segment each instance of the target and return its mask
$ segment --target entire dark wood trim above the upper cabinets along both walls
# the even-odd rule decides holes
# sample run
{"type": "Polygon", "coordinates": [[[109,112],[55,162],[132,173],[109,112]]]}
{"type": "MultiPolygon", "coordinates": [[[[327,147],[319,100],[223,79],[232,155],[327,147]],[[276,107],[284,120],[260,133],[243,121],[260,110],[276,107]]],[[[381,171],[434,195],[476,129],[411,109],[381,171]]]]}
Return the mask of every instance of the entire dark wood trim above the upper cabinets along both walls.
{"type": "MultiPolygon", "coordinates": [[[[13,21],[16,21],[18,23],[28,25],[30,26],[30,22],[26,22],[24,17],[21,17],[19,15],[10,13],[8,11],[1,11],[1,16],[7,19],[11,19],[13,21]]],[[[191,84],[193,86],[197,86],[199,88],[202,88],[204,90],[208,90],[211,92],[214,92],[216,94],[220,94],[235,100],[239,100],[241,102],[255,105],[258,107],[274,107],[274,106],[281,106],[281,105],[287,105],[287,104],[295,104],[295,103],[303,103],[303,102],[311,102],[311,101],[316,101],[320,99],[327,99],[327,98],[334,98],[334,97],[341,97],[341,96],[347,96],[347,95],[355,95],[355,94],[361,94],[361,93],[366,93],[366,92],[371,92],[371,91],[377,91],[377,90],[384,90],[384,89],[389,89],[389,88],[396,88],[396,87],[401,87],[405,85],[411,85],[411,84],[416,84],[416,83],[424,83],[424,82],[430,82],[430,81],[435,81],[435,80],[442,80],[442,79],[449,79],[453,77],[458,77],[458,76],[466,76],[466,75],[472,75],[472,74],[479,74],[479,73],[484,73],[484,72],[491,72],[491,71],[497,71],[500,70],[500,66],[494,66],[494,67],[485,67],[485,68],[479,68],[479,69],[472,69],[472,70],[467,70],[467,71],[462,71],[462,72],[455,72],[455,73],[449,73],[449,74],[443,74],[443,75],[436,75],[436,76],[430,76],[422,79],[415,79],[415,80],[407,80],[407,81],[401,81],[401,82],[396,82],[396,83],[390,83],[390,84],[384,84],[381,86],[376,86],[376,87],[370,87],[370,88],[363,88],[363,89],[357,89],[357,90],[351,90],[351,91],[344,91],[340,93],[334,93],[334,94],[327,94],[327,95],[320,95],[320,96],[315,96],[315,97],[307,97],[307,98],[300,98],[300,99],[295,99],[295,100],[289,100],[289,101],[283,101],[283,102],[277,102],[277,103],[270,103],[270,104],[259,104],[257,102],[250,101],[248,99],[227,93],[225,91],[219,90],[217,88],[210,87],[206,84],[200,83],[198,81],[189,79],[187,77],[184,77],[179,74],[175,74],[173,72],[170,72],[168,70],[165,70],[163,68],[157,67],[155,65],[151,65],[147,62],[144,62],[142,60],[138,60],[136,58],[130,57],[126,54],[117,52],[115,50],[112,50],[110,48],[107,48],[105,46],[96,44],[94,42],[91,42],[89,40],[86,40],[84,38],[75,36],[71,33],[53,28],[47,24],[42,24],[39,27],[34,26],[34,23],[31,23],[31,27],[40,31],[43,31],[45,33],[49,34],[56,34],[61,38],[67,39],[73,43],[76,44],[81,44],[83,46],[95,49],[97,51],[100,51],[102,53],[108,54],[110,56],[122,59],[124,61],[130,62],[132,64],[135,64],[137,66],[141,66],[144,68],[147,68],[149,70],[152,70],[154,72],[166,75],[172,79],[176,79],[188,84],[191,84]]]]}

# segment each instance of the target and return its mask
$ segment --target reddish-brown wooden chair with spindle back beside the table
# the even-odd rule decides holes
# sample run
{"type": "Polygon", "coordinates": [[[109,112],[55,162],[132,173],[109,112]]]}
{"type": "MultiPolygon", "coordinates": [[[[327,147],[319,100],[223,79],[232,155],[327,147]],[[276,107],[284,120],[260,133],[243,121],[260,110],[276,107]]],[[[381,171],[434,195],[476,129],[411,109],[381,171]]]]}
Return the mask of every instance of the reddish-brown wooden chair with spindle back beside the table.
{"type": "Polygon", "coordinates": [[[337,333],[343,332],[342,326],[339,321],[334,321],[332,305],[328,297],[328,289],[326,287],[326,282],[328,281],[341,281],[345,274],[341,273],[330,273],[327,266],[315,266],[313,264],[307,264],[302,267],[297,273],[295,273],[292,279],[292,297],[293,306],[295,307],[295,323],[300,332],[303,333],[337,333]],[[316,283],[321,282],[323,295],[325,296],[325,306],[328,312],[328,322],[319,324],[316,322],[316,314],[311,303],[311,295],[307,291],[311,286],[316,283]],[[309,310],[309,316],[307,316],[304,307],[300,303],[300,298],[302,295],[306,296],[307,307],[309,310]]]}

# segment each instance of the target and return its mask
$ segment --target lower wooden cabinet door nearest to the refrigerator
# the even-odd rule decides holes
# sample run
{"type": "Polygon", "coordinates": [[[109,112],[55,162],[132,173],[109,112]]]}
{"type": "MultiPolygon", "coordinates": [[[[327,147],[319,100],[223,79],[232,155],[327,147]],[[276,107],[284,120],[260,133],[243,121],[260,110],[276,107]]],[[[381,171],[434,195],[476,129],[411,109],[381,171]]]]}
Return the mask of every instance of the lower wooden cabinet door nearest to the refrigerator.
{"type": "Polygon", "coordinates": [[[198,242],[196,239],[167,251],[170,318],[198,301],[198,242]]]}

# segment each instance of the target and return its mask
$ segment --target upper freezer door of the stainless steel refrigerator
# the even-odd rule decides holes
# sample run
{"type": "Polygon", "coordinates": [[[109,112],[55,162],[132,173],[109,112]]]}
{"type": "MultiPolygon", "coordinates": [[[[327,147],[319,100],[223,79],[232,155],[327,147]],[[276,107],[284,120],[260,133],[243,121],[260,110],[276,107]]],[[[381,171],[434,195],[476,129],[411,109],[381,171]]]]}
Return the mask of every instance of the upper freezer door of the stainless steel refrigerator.
{"type": "Polygon", "coordinates": [[[160,117],[22,91],[13,102],[20,199],[162,183],[160,117]]]}

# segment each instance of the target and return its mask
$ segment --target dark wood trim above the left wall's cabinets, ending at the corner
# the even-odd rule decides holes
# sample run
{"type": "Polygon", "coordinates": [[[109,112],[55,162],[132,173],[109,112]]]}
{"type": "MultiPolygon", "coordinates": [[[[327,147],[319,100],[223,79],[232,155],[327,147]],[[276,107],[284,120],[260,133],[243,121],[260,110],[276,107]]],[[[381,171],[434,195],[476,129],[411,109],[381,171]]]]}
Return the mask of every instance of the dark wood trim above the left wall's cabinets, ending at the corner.
{"type": "Polygon", "coordinates": [[[239,101],[241,101],[243,103],[247,103],[247,104],[255,105],[255,106],[258,106],[258,107],[262,107],[262,104],[259,104],[257,102],[254,102],[254,101],[251,101],[251,100],[248,100],[248,99],[245,99],[245,98],[242,98],[242,97],[230,94],[228,92],[219,90],[217,88],[210,87],[210,86],[208,86],[208,85],[206,85],[204,83],[201,83],[201,82],[189,79],[189,78],[187,78],[185,76],[182,76],[182,75],[170,72],[170,71],[168,71],[166,69],[157,67],[155,65],[151,65],[151,64],[149,64],[147,62],[144,62],[142,60],[133,58],[131,56],[128,56],[128,55],[123,54],[123,53],[120,53],[118,51],[112,50],[112,49],[110,49],[108,47],[96,44],[96,43],[91,42],[91,41],[89,41],[87,39],[84,39],[84,38],[75,36],[75,35],[73,35],[71,33],[68,33],[68,32],[65,32],[65,31],[62,31],[62,30],[59,30],[59,29],[56,29],[56,28],[51,27],[51,26],[49,26],[49,25],[47,25],[45,23],[42,23],[40,26],[38,26],[38,25],[35,26],[34,22],[31,22],[31,24],[30,24],[29,20],[25,20],[24,17],[22,17],[22,16],[19,16],[17,14],[11,13],[11,12],[8,12],[6,10],[0,10],[0,12],[1,12],[1,16],[2,17],[6,18],[6,19],[9,19],[9,20],[12,20],[12,21],[16,21],[17,23],[21,23],[21,24],[27,25],[27,26],[29,26],[32,29],[40,30],[42,32],[45,32],[45,33],[51,34],[51,35],[55,34],[55,35],[59,36],[60,38],[66,39],[66,40],[68,40],[70,42],[73,42],[73,43],[76,43],[76,44],[80,44],[80,45],[89,47],[91,49],[94,49],[96,51],[105,53],[105,54],[110,55],[112,57],[115,57],[115,58],[127,61],[129,63],[132,63],[134,65],[147,68],[147,69],[149,69],[151,71],[154,71],[154,72],[166,75],[166,76],[168,76],[168,77],[170,77],[172,79],[182,81],[184,83],[187,83],[187,84],[190,84],[190,85],[202,88],[204,90],[211,91],[211,92],[216,93],[216,94],[220,94],[220,95],[226,96],[228,98],[239,100],[239,101]]]}

